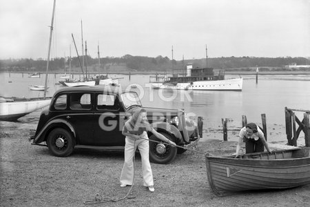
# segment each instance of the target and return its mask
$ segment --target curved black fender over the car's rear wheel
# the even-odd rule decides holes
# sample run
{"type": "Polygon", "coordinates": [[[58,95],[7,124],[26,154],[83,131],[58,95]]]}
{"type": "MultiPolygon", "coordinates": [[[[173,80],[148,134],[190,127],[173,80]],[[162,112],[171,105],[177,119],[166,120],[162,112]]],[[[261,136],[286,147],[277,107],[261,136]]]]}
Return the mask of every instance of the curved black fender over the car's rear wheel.
{"type": "Polygon", "coordinates": [[[53,119],[52,121],[49,121],[48,124],[45,124],[45,126],[40,130],[38,135],[34,137],[34,140],[32,143],[39,144],[42,141],[45,141],[46,133],[48,133],[52,128],[63,127],[63,126],[67,126],[68,128],[70,128],[74,137],[76,137],[76,132],[73,126],[68,121],[66,121],[65,119],[53,119]]]}

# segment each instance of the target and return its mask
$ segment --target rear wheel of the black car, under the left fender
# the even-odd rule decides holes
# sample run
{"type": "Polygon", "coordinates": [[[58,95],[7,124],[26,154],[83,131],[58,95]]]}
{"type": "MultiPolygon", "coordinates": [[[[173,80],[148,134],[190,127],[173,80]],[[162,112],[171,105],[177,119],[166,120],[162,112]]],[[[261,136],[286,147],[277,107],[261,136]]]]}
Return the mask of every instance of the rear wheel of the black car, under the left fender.
{"type": "Polygon", "coordinates": [[[56,157],[67,157],[73,152],[73,138],[68,130],[55,128],[48,135],[48,149],[56,157]]]}

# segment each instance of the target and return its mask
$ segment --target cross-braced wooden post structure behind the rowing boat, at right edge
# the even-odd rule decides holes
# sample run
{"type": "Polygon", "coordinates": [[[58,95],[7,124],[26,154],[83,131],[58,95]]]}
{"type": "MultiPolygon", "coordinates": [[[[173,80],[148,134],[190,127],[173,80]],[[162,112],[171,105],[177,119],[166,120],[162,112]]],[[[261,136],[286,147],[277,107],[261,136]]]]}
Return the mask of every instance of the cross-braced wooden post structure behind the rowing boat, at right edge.
{"type": "Polygon", "coordinates": [[[297,139],[300,132],[304,132],[305,146],[310,146],[310,124],[309,124],[310,110],[298,110],[285,107],[285,128],[287,132],[287,141],[291,146],[297,146],[297,139]],[[304,112],[302,121],[296,117],[295,112],[304,112]],[[296,123],[298,128],[296,130],[296,123]]]}

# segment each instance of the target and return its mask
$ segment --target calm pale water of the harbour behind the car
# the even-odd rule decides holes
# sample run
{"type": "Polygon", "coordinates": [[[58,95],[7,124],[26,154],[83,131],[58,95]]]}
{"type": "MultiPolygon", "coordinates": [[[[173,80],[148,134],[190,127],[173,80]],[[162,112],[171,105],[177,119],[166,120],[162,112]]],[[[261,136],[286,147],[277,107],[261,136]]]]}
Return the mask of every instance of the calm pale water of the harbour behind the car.
{"type": "MultiPolygon", "coordinates": [[[[49,75],[47,95],[52,96],[63,86],[58,83],[60,75],[49,75]]],[[[145,86],[149,75],[110,75],[118,77],[122,88],[138,83],[136,88],[143,106],[158,108],[184,108],[187,112],[203,116],[204,128],[221,128],[221,118],[229,118],[229,126],[240,127],[242,115],[248,122],[261,123],[260,115],[266,114],[267,126],[285,124],[285,106],[293,109],[310,110],[310,75],[261,75],[256,84],[255,75],[242,76],[242,92],[234,91],[173,91],[152,90],[145,86]]],[[[227,78],[236,76],[227,76],[227,78]]],[[[79,78],[76,75],[74,78],[79,78]]],[[[45,75],[41,78],[28,78],[28,74],[1,73],[0,95],[6,97],[43,97],[43,92],[28,89],[28,85],[44,85],[45,75]],[[12,81],[12,83],[9,83],[12,81]]],[[[302,112],[296,112],[300,118],[302,112]]]]}

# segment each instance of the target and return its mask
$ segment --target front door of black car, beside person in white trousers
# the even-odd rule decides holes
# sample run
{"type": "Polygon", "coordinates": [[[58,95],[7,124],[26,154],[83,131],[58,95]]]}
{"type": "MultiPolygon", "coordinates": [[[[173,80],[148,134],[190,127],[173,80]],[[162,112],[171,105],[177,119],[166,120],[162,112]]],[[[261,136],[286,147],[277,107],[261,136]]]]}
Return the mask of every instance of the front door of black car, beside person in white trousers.
{"type": "Polygon", "coordinates": [[[115,94],[97,93],[94,105],[94,141],[97,146],[125,146],[122,129],[127,119],[115,94]]]}

